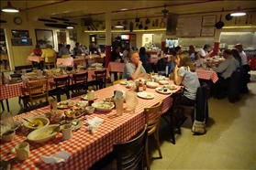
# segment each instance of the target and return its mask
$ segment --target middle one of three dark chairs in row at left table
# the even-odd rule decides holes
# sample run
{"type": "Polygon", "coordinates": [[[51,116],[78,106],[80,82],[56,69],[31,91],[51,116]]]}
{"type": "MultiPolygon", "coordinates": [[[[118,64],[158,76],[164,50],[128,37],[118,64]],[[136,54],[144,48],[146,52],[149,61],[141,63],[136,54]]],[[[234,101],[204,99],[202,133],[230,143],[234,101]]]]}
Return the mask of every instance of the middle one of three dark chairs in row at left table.
{"type": "Polygon", "coordinates": [[[77,73],[72,75],[73,83],[72,83],[72,90],[79,91],[79,90],[87,90],[88,89],[88,72],[85,73],[77,73]]]}

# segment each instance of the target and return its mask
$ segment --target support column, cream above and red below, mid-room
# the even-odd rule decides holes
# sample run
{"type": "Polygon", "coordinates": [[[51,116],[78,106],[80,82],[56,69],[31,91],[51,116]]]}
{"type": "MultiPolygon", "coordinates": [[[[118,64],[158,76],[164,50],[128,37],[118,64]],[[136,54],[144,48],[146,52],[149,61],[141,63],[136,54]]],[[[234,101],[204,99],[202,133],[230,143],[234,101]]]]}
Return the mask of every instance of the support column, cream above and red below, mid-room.
{"type": "Polygon", "coordinates": [[[108,63],[111,61],[111,11],[106,11],[106,60],[105,60],[105,67],[107,68],[108,63]]]}

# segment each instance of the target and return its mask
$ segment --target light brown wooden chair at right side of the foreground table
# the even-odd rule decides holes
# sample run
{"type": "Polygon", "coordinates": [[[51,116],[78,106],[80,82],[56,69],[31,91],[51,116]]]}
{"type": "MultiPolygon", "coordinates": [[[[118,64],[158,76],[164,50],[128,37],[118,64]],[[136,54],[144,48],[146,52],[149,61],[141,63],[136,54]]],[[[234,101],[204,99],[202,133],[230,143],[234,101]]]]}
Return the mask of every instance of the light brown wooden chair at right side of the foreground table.
{"type": "MultiPolygon", "coordinates": [[[[157,105],[153,107],[144,108],[145,123],[148,125],[148,135],[154,134],[160,158],[162,158],[160,142],[159,142],[159,122],[161,119],[161,109],[162,109],[162,101],[160,101],[157,105]]],[[[147,163],[147,169],[150,169],[148,143],[146,144],[146,163],[147,163]]]]}

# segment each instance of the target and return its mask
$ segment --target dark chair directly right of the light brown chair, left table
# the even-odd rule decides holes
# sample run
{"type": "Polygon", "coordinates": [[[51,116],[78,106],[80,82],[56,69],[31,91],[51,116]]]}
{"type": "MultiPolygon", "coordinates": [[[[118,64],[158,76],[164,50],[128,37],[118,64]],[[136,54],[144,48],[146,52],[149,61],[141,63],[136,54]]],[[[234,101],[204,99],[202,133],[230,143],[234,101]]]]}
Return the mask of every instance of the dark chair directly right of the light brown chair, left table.
{"type": "Polygon", "coordinates": [[[57,101],[61,101],[61,94],[66,94],[67,99],[70,99],[70,76],[64,78],[54,78],[55,88],[54,90],[50,90],[49,95],[57,96],[57,101]]]}

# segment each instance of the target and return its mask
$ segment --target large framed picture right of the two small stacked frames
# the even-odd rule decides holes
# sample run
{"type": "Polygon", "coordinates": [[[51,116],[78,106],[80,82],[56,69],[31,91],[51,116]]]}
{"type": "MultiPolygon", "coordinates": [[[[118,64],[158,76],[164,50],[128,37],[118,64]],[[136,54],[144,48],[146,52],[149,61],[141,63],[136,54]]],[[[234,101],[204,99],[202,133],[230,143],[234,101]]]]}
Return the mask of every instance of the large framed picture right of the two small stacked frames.
{"type": "Polygon", "coordinates": [[[54,48],[53,32],[48,29],[35,29],[36,41],[40,48],[46,48],[46,45],[51,45],[54,48]]]}

